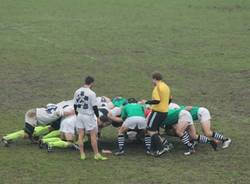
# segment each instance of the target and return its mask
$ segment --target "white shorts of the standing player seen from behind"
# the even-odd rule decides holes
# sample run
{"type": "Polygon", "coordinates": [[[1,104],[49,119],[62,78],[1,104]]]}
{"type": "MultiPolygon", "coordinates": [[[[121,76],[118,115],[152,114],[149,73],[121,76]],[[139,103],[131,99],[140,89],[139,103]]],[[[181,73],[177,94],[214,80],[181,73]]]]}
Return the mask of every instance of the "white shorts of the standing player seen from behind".
{"type": "Polygon", "coordinates": [[[76,127],[84,129],[86,132],[96,129],[98,131],[98,125],[95,115],[78,114],[76,117],[76,127]]]}

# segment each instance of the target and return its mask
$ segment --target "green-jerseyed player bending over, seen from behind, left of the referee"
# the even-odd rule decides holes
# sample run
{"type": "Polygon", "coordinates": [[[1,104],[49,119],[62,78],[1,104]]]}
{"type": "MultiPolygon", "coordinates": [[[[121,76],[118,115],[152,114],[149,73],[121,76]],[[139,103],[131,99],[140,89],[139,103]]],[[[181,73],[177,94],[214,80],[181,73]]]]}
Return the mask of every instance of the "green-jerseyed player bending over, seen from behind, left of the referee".
{"type": "Polygon", "coordinates": [[[137,104],[136,99],[128,99],[128,104],[122,108],[121,118],[112,117],[113,121],[123,122],[122,126],[118,129],[118,147],[119,151],[115,153],[116,156],[124,155],[125,149],[125,133],[130,129],[146,130],[147,124],[144,115],[144,107],[141,104],[137,104]]]}

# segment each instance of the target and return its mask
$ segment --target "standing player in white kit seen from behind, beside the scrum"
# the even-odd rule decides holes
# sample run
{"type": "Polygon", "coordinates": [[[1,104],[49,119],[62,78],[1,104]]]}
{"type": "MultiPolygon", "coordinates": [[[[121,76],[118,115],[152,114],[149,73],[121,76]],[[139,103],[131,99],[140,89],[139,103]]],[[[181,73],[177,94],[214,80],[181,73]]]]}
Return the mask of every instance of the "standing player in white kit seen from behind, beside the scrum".
{"type": "Polygon", "coordinates": [[[92,91],[94,78],[87,76],[83,87],[74,94],[74,109],[76,114],[76,127],[78,128],[78,145],[80,147],[80,159],[85,160],[84,131],[89,132],[95,160],[107,160],[98,151],[97,136],[98,124],[100,124],[96,94],[92,91]],[[96,116],[96,117],[95,117],[96,116]],[[97,119],[96,119],[97,118],[97,119]]]}

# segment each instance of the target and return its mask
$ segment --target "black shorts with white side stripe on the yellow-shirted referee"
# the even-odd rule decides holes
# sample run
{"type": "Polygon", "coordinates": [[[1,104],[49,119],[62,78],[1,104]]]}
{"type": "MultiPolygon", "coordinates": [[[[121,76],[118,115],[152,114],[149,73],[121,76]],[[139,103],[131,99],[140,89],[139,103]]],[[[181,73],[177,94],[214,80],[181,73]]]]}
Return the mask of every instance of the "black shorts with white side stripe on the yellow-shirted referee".
{"type": "Polygon", "coordinates": [[[167,116],[167,112],[152,111],[147,121],[147,130],[154,132],[159,131],[161,124],[167,116]]]}

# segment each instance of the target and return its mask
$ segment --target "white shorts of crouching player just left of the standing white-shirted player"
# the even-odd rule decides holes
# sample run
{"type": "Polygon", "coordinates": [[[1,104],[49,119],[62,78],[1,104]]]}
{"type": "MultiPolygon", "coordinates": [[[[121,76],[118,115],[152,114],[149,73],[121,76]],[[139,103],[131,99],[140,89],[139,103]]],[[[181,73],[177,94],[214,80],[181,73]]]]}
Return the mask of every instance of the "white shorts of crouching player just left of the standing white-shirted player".
{"type": "Polygon", "coordinates": [[[60,132],[75,134],[76,116],[69,116],[61,121],[60,132]]]}

